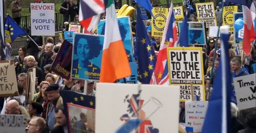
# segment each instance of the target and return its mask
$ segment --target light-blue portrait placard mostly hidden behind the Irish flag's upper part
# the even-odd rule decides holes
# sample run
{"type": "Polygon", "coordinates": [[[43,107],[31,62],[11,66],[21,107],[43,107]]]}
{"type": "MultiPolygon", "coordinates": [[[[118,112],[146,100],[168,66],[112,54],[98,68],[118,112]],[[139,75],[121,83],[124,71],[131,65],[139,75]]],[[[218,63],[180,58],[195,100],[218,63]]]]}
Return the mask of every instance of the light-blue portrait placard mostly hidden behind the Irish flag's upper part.
{"type": "MultiPolygon", "coordinates": [[[[132,31],[131,31],[131,24],[130,24],[130,17],[119,17],[117,18],[120,34],[122,37],[122,41],[124,44],[124,48],[127,54],[127,58],[129,62],[134,62],[133,59],[133,43],[132,43],[132,31]]],[[[106,20],[101,20],[98,23],[98,34],[104,35],[105,34],[105,22],[106,20]]],[[[113,25],[115,26],[115,25],[113,25]]]]}

